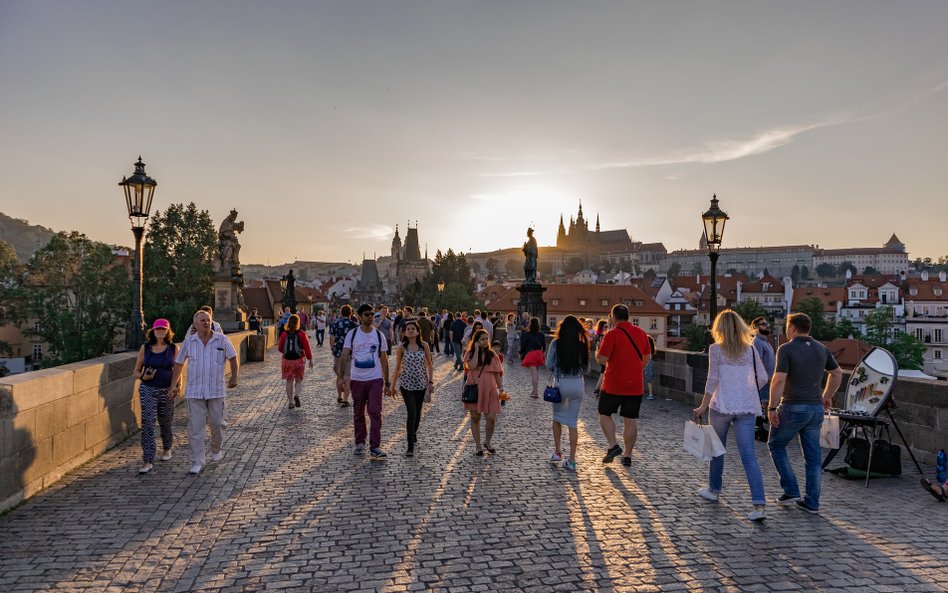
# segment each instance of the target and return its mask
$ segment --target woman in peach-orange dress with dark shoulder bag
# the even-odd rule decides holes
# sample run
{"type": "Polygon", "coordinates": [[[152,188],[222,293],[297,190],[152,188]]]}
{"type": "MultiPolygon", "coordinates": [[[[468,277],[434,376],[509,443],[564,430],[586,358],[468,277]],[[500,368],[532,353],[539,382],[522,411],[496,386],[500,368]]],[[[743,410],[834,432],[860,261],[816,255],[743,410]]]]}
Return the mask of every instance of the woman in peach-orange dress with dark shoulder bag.
{"type": "Polygon", "coordinates": [[[471,434],[477,448],[474,455],[483,457],[485,449],[488,453],[496,453],[491,446],[491,438],[494,436],[497,414],[500,413],[500,378],[504,374],[504,365],[497,353],[491,349],[487,331],[479,329],[471,336],[471,345],[464,354],[464,370],[467,372],[465,384],[477,384],[477,403],[464,404],[464,409],[471,413],[471,434]],[[481,414],[487,416],[483,448],[481,414]]]}

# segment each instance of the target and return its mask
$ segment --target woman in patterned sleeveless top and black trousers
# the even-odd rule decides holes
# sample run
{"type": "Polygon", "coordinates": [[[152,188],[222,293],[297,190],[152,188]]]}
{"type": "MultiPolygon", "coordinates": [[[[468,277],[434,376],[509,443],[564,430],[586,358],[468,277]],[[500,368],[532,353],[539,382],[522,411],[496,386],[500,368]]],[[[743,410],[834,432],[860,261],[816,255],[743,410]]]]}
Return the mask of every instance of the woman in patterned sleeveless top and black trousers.
{"type": "Polygon", "coordinates": [[[405,457],[415,454],[418,424],[421,422],[421,404],[425,400],[425,393],[430,394],[434,389],[431,350],[428,343],[419,338],[420,333],[415,320],[406,322],[402,327],[402,343],[395,352],[395,377],[392,384],[401,390],[408,412],[408,449],[405,451],[405,457]]]}

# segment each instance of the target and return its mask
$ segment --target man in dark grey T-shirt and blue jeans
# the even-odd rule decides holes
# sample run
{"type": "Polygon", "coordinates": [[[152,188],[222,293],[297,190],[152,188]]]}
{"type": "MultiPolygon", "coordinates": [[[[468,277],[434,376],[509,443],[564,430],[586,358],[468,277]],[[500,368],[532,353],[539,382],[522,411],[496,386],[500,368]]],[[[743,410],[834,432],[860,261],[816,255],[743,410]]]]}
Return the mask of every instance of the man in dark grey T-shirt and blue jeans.
{"type": "Polygon", "coordinates": [[[830,351],[810,337],[811,325],[810,318],[804,313],[792,313],[787,317],[790,341],[777,349],[777,366],[770,384],[767,412],[771,426],[770,456],[783,487],[783,495],[777,502],[796,503],[804,511],[815,514],[820,509],[823,473],[820,426],[823,424],[823,411],[831,407],[843,372],[830,351]],[[821,390],[825,372],[829,373],[829,379],[821,390]],[[806,496],[803,499],[800,498],[796,474],[787,458],[787,445],[797,435],[800,436],[806,467],[806,496]]]}

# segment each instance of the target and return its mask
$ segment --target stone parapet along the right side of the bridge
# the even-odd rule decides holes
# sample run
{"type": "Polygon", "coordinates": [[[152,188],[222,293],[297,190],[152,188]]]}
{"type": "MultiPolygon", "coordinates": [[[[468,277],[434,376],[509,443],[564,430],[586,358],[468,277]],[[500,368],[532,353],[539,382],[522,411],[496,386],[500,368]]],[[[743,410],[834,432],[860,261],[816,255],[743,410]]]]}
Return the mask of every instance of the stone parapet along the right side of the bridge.
{"type": "MultiPolygon", "coordinates": [[[[708,356],[699,352],[660,350],[655,353],[655,393],[698,405],[708,379],[708,356]]],[[[844,377],[845,386],[849,378],[844,377]]],[[[837,397],[842,394],[840,388],[837,397]]],[[[892,415],[919,461],[934,465],[939,449],[948,449],[948,383],[899,379],[892,415]]],[[[893,438],[898,439],[895,432],[893,438]]],[[[906,454],[907,455],[907,454],[906,454]]]]}

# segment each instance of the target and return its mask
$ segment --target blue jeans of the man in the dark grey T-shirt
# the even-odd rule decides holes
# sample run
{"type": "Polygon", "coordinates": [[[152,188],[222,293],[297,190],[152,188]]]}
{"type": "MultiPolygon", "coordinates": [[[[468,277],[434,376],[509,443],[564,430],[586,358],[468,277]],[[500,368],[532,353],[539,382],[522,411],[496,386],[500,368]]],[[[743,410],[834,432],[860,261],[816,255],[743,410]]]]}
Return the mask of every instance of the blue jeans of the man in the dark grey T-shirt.
{"type": "Polygon", "coordinates": [[[782,404],[777,410],[780,426],[770,429],[770,456],[780,474],[780,486],[787,496],[800,496],[797,476],[787,457],[787,445],[800,435],[800,448],[806,467],[806,496],[803,502],[811,509],[820,508],[820,480],[823,477],[820,451],[820,426],[823,424],[823,406],[820,404],[782,404]]]}

